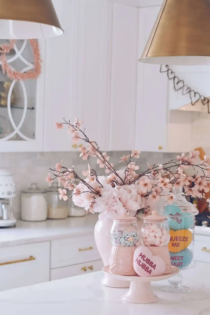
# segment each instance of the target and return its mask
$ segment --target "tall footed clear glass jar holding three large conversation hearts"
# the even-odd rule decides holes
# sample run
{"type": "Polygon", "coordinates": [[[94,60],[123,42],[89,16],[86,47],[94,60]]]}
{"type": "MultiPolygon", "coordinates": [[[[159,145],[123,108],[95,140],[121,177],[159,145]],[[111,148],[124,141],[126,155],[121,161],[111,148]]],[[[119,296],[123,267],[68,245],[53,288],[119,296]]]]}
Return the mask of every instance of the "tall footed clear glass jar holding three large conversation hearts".
{"type": "MultiPolygon", "coordinates": [[[[172,266],[180,270],[192,268],[194,262],[194,234],[195,234],[195,215],[198,210],[182,196],[182,188],[173,187],[174,201],[171,205],[165,206],[161,213],[168,218],[170,228],[170,261],[172,266]]],[[[190,288],[181,287],[182,276],[172,277],[168,280],[170,286],[162,289],[167,292],[186,292],[190,288]]]]}

